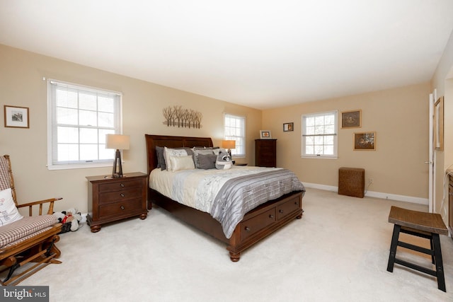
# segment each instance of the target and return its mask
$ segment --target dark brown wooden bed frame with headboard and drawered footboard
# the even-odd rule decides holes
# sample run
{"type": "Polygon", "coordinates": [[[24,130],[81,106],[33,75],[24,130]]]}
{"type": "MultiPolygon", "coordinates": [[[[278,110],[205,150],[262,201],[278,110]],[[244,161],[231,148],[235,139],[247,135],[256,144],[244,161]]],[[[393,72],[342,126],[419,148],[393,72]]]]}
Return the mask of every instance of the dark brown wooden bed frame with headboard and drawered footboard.
{"type": "MultiPolygon", "coordinates": [[[[156,146],[167,148],[213,147],[212,139],[209,137],[173,137],[145,134],[145,139],[148,175],[158,165],[156,146]]],[[[151,187],[148,187],[148,208],[152,209],[152,204],[155,204],[190,226],[226,243],[226,250],[229,250],[231,261],[237,262],[241,257],[241,252],[247,248],[250,248],[287,223],[294,221],[294,219],[302,219],[303,195],[304,190],[289,192],[251,209],[236,225],[229,238],[226,237],[221,223],[214,219],[211,214],[176,202],[164,196],[164,194],[151,189],[151,187]]]]}

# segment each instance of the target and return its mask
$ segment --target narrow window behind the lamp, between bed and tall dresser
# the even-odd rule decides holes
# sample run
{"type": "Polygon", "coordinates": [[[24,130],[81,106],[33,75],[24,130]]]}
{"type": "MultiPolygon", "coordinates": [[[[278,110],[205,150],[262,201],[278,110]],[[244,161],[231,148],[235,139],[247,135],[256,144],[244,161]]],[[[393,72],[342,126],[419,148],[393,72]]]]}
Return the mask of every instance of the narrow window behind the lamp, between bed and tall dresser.
{"type": "Polygon", "coordinates": [[[236,149],[231,149],[232,156],[246,156],[246,117],[225,114],[224,139],[236,141],[236,149]]]}

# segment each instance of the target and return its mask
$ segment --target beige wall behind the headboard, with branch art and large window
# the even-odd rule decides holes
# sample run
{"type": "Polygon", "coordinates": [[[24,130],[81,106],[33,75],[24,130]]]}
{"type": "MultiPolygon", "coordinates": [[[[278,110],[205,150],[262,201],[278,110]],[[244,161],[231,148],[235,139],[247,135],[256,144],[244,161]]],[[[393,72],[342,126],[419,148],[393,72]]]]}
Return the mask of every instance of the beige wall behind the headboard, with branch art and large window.
{"type": "Polygon", "coordinates": [[[131,139],[130,150],[124,153],[124,172],[147,172],[144,134],[212,137],[219,145],[225,112],[246,116],[247,158],[240,161],[255,161],[260,110],[0,45],[1,103],[30,108],[30,129],[0,130],[0,153],[11,155],[19,203],[61,196],[64,202],[57,205],[57,211],[76,207],[86,212],[86,176],[111,173],[111,168],[47,170],[47,86],[43,77],[123,93],[123,132],[131,139]],[[202,112],[202,128],[166,127],[162,109],[168,105],[202,112]]]}

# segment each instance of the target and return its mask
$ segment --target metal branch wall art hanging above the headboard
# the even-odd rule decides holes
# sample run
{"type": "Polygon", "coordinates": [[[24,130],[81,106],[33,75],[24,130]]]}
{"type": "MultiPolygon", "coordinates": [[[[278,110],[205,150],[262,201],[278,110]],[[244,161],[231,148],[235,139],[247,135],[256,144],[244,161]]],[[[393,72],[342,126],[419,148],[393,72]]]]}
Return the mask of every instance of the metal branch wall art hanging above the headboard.
{"type": "Polygon", "coordinates": [[[201,128],[201,120],[203,115],[192,109],[183,109],[182,106],[174,105],[168,106],[162,110],[165,121],[168,127],[192,127],[201,128]]]}

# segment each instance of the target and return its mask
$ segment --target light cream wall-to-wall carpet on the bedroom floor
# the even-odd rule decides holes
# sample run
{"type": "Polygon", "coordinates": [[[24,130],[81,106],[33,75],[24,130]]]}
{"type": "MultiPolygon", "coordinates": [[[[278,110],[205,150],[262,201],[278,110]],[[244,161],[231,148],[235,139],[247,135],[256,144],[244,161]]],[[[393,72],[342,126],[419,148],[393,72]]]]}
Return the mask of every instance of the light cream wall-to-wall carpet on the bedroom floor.
{"type": "MultiPolygon", "coordinates": [[[[453,301],[452,238],[441,236],[447,293],[437,289],[434,277],[399,265],[386,272],[391,205],[428,210],[308,189],[303,218],[243,252],[236,263],[224,244],[153,209],[144,221],[62,234],[63,263],[21,285],[49,285],[50,301],[62,302],[453,301]]],[[[415,258],[398,248],[403,253],[415,258]]],[[[429,265],[428,256],[420,259],[429,265]]]]}

